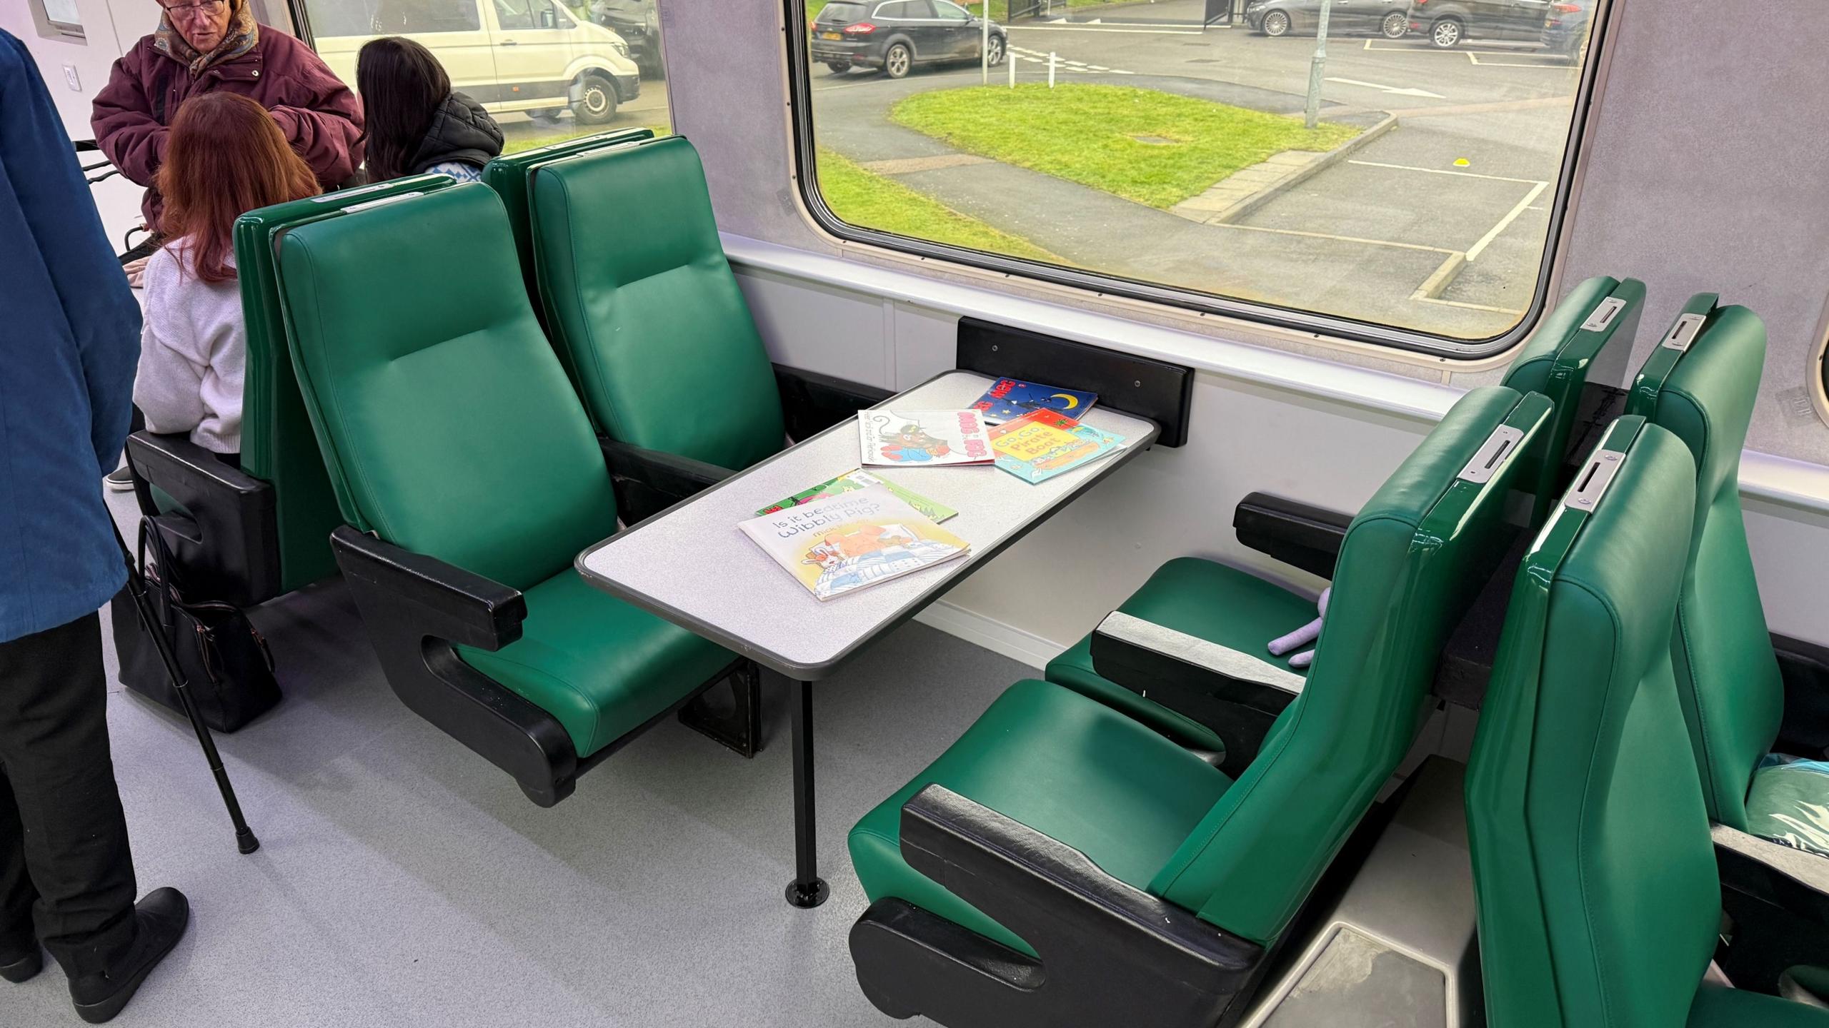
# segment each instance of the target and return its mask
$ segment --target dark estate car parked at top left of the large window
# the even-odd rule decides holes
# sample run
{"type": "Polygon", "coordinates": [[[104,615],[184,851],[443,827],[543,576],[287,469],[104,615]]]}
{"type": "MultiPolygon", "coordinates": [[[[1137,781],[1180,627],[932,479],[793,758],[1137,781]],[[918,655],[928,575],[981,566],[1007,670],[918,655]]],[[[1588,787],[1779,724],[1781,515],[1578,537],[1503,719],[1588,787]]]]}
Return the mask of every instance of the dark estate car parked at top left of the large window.
{"type": "Polygon", "coordinates": [[[902,79],[925,62],[1002,64],[1008,48],[1002,26],[991,22],[986,46],[984,22],[951,0],[834,0],[812,22],[812,59],[838,75],[882,68],[902,79]]]}

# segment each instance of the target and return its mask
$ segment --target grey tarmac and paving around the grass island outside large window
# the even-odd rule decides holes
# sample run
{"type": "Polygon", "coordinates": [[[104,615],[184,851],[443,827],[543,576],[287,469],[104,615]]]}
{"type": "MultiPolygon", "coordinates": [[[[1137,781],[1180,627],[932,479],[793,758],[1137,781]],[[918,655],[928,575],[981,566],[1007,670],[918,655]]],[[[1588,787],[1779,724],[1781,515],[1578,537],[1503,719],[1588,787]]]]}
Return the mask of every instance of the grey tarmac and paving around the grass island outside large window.
{"type": "MultiPolygon", "coordinates": [[[[1152,7],[1160,16],[1200,2],[1152,7]]],[[[1130,16],[1128,27],[1101,22],[1024,22],[1011,29],[1011,51],[1055,51],[1081,68],[1130,73],[1059,70],[1070,82],[1277,113],[1302,108],[1313,38],[1202,33],[1130,16]]],[[[1019,62],[1017,73],[1046,77],[1032,62],[1019,62]]],[[[997,163],[909,165],[896,179],[1088,269],[1480,338],[1516,324],[1535,293],[1577,73],[1527,48],[1436,51],[1419,40],[1330,38],[1324,117],[1390,110],[1399,126],[1231,225],[1200,225],[997,163]]],[[[900,82],[816,75],[818,141],[863,163],[946,163],[949,146],[887,113],[916,91],[975,84],[975,68],[900,82]]]]}

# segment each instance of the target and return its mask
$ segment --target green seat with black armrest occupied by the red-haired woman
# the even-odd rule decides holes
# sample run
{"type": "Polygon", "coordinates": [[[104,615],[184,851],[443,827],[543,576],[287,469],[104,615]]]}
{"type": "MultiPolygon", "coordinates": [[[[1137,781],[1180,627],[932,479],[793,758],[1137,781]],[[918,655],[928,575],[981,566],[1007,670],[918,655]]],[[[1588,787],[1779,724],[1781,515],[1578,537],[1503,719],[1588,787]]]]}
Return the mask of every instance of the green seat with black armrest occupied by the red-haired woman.
{"type": "Polygon", "coordinates": [[[141,490],[141,510],[155,516],[198,598],[249,607],[337,571],[329,534],[342,519],[293,377],[273,240],[293,225],[448,185],[444,176],[412,176],[263,207],[236,221],[247,318],[241,466],[218,461],[188,435],[128,439],[128,459],[150,487],[141,490]]]}

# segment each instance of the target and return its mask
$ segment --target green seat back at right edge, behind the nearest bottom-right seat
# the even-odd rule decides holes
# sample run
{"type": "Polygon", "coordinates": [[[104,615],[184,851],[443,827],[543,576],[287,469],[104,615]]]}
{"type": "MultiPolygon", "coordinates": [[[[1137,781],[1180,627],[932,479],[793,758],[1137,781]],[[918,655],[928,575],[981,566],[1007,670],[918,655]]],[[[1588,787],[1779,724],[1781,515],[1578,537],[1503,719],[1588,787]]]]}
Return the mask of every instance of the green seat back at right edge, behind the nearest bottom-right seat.
{"type": "Polygon", "coordinates": [[[1739,509],[1739,452],[1759,399],[1765,324],[1747,307],[1714,307],[1712,294],[1686,313],[1705,315],[1705,327],[1685,351],[1652,351],[1628,410],[1675,434],[1695,457],[1695,521],[1674,640],[1677,695],[1708,814],[1745,830],[1752,770],[1785,708],[1739,509]]]}

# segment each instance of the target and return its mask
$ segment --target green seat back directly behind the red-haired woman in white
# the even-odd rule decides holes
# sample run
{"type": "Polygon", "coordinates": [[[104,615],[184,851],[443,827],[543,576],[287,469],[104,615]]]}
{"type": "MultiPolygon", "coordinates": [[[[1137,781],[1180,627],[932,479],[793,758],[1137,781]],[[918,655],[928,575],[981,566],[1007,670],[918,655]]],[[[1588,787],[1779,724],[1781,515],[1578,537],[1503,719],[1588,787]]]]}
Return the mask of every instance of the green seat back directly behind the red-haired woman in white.
{"type": "Polygon", "coordinates": [[[342,523],[324,455],[298,397],[293,355],[280,309],[273,240],[293,225],[410,192],[452,185],[444,176],[412,176],[249,210],[234,225],[236,276],[247,318],[247,369],[241,384],[241,470],[273,483],[280,534],[280,591],[337,571],[331,529],[342,523]]]}

